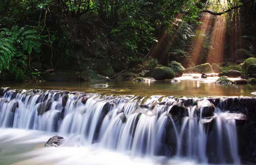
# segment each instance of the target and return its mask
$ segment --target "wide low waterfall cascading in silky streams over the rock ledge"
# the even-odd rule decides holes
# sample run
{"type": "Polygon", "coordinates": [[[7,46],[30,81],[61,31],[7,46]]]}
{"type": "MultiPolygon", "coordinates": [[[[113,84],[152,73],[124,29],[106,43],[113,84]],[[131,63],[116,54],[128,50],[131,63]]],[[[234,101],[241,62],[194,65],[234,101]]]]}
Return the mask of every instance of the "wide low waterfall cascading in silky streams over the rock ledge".
{"type": "Polygon", "coordinates": [[[96,143],[136,157],[239,164],[241,114],[224,112],[224,101],[2,89],[0,127],[58,132],[68,138],[63,145],[96,143]]]}

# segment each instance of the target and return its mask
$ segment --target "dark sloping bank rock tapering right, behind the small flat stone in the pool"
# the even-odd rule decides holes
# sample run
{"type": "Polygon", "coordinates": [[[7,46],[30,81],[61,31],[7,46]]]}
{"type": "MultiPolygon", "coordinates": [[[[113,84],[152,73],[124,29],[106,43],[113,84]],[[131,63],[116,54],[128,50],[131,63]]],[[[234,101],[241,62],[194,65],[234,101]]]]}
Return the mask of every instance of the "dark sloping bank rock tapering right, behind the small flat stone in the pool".
{"type": "Polygon", "coordinates": [[[81,73],[81,79],[87,82],[109,82],[108,77],[96,74],[95,72],[87,69],[81,73]]]}

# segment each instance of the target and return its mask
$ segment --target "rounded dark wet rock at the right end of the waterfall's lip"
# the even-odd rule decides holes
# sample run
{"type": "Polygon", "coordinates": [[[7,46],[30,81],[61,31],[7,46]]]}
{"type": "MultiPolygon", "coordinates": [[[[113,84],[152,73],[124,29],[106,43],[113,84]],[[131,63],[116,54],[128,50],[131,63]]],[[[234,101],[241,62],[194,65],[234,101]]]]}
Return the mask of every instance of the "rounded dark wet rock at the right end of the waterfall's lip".
{"type": "Polygon", "coordinates": [[[210,117],[214,115],[215,107],[209,100],[203,100],[197,102],[197,112],[202,117],[210,117]]]}

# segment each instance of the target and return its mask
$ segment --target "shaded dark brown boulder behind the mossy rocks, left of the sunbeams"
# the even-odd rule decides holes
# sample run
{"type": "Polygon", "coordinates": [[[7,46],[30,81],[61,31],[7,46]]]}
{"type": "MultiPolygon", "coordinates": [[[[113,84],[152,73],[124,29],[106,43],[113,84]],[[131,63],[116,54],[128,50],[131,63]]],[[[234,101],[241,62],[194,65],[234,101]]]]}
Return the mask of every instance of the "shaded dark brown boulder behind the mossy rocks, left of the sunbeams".
{"type": "Polygon", "coordinates": [[[187,68],[189,66],[189,63],[191,61],[187,57],[187,55],[182,53],[182,52],[171,52],[171,53],[169,53],[169,57],[168,58],[169,58],[168,61],[180,62],[182,64],[182,66],[184,66],[185,68],[187,68]]]}

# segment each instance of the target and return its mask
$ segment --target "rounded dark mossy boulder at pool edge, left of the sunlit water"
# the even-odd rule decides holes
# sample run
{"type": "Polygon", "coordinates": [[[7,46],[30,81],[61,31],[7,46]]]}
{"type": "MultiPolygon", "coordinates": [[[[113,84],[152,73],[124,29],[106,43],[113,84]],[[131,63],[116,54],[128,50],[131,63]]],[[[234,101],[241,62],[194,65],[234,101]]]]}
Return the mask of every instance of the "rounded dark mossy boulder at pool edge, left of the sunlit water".
{"type": "Polygon", "coordinates": [[[172,79],[175,77],[173,70],[169,67],[154,68],[153,70],[145,73],[143,77],[152,77],[156,80],[172,79]]]}

